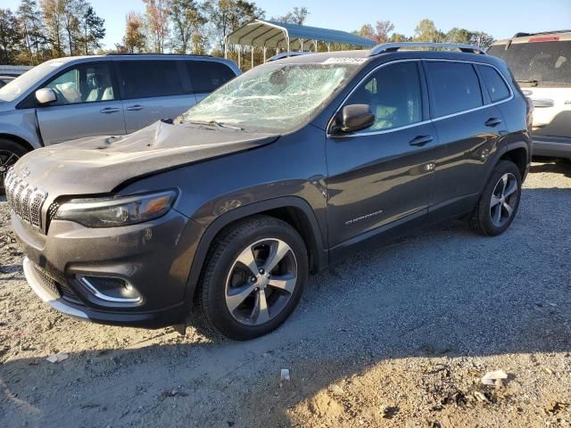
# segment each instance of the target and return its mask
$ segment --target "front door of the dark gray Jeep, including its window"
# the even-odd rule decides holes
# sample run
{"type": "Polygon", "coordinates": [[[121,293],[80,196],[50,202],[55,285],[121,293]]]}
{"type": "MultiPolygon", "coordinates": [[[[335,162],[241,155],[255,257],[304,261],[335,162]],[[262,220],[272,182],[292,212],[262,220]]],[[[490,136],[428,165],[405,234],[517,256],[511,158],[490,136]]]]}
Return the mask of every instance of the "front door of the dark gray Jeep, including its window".
{"type": "Polygon", "coordinates": [[[343,105],[350,104],[369,104],[376,121],[327,137],[330,247],[426,214],[440,150],[420,62],[381,66],[343,105]]]}

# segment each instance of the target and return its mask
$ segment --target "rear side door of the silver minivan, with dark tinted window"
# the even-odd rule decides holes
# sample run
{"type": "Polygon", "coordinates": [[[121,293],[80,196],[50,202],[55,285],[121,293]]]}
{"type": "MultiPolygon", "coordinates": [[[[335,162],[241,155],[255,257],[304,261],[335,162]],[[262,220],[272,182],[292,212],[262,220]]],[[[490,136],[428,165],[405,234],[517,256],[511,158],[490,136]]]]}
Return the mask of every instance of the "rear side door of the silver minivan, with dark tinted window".
{"type": "Polygon", "coordinates": [[[178,60],[117,62],[127,133],[174,119],[196,103],[178,60]]]}

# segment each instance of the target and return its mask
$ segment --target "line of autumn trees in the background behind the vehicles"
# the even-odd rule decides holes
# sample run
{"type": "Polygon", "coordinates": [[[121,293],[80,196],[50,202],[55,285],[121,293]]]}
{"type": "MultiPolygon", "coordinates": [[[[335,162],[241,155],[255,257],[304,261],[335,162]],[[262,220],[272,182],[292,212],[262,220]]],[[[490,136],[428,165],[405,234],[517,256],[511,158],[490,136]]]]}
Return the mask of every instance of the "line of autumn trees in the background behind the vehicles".
{"type": "MultiPolygon", "coordinates": [[[[109,52],[223,56],[228,34],[253,19],[266,19],[266,12],[247,0],[142,0],[142,4],[143,12],[128,12],[124,36],[111,47],[103,46],[105,21],[88,0],[21,0],[13,12],[0,8],[0,63],[36,65],[66,55],[109,52]]],[[[295,7],[269,19],[302,25],[309,14],[307,8],[295,7]]],[[[430,20],[420,21],[410,37],[394,29],[392,21],[377,21],[353,33],[377,43],[451,42],[487,47],[493,42],[482,31],[454,28],[444,33],[430,20]]],[[[236,56],[236,50],[229,56],[236,56]]],[[[255,56],[260,62],[260,54],[255,56]]]]}

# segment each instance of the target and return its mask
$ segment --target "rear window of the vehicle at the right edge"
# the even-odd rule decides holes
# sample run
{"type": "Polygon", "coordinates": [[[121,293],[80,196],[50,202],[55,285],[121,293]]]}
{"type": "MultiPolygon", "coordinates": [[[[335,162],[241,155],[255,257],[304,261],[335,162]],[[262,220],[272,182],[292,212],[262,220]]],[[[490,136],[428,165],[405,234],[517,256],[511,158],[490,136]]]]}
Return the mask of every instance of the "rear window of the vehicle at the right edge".
{"type": "Polygon", "coordinates": [[[521,86],[571,86],[571,40],[542,41],[553,38],[492,45],[488,53],[507,62],[521,86]]]}

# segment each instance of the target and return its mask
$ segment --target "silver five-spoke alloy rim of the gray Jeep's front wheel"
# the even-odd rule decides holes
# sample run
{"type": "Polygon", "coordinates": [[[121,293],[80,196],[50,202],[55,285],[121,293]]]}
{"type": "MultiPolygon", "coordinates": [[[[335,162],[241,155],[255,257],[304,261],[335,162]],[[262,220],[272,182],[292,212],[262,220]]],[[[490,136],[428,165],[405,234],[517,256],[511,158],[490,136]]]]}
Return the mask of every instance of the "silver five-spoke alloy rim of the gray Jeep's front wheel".
{"type": "Polygon", "coordinates": [[[248,245],[236,257],[226,281],[229,313],[244,325],[262,325],[285,309],[297,284],[294,251],[277,238],[248,245]]]}

